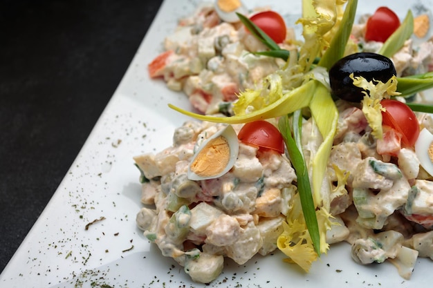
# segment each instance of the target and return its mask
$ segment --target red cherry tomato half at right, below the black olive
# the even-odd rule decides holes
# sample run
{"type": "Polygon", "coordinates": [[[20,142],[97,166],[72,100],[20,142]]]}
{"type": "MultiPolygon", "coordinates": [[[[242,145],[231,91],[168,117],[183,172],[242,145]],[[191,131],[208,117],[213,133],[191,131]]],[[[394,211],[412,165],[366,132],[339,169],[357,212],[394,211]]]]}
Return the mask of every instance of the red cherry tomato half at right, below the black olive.
{"type": "Polygon", "coordinates": [[[382,124],[394,128],[401,134],[403,146],[414,146],[419,135],[418,119],[409,106],[393,99],[380,102],[386,109],[382,112],[382,124]]]}

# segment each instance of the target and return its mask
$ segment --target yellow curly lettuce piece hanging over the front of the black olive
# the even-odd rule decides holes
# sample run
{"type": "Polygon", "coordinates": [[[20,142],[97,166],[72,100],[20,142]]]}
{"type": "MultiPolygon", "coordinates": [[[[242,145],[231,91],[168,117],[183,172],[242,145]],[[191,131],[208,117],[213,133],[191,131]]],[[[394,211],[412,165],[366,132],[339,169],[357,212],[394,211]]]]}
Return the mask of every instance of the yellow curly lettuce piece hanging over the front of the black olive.
{"type": "Polygon", "coordinates": [[[367,81],[362,76],[353,76],[353,73],[349,77],[353,80],[353,85],[364,89],[362,93],[365,96],[361,100],[362,112],[371,127],[371,134],[376,139],[382,139],[382,111],[385,111],[385,108],[380,104],[380,101],[400,95],[397,92],[397,77],[391,77],[386,83],[378,80],[367,81]]]}

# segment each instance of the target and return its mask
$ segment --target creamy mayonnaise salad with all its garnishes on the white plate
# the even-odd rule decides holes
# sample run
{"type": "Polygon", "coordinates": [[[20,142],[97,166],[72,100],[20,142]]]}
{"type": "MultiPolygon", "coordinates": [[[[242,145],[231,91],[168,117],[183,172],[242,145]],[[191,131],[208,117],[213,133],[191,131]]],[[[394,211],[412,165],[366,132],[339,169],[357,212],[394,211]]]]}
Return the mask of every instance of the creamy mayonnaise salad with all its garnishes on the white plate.
{"type": "Polygon", "coordinates": [[[354,24],[356,0],[304,0],[299,41],[278,13],[233,19],[223,2],[182,19],[149,64],[195,112],[170,107],[201,122],[134,157],[153,205],[138,227],[196,282],[276,249],[308,271],[342,241],[409,279],[418,256],[433,259],[433,162],[419,144],[433,140],[433,39],[414,41],[425,17],[379,8],[354,24]]]}

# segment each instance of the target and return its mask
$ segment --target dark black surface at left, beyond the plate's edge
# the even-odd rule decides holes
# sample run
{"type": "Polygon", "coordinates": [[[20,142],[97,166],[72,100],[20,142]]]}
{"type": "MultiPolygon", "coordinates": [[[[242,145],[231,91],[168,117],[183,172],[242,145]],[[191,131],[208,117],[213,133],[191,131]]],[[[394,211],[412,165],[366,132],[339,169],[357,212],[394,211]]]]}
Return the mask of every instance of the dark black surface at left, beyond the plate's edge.
{"type": "Polygon", "coordinates": [[[0,271],[62,181],[162,0],[0,0],[0,271]]]}

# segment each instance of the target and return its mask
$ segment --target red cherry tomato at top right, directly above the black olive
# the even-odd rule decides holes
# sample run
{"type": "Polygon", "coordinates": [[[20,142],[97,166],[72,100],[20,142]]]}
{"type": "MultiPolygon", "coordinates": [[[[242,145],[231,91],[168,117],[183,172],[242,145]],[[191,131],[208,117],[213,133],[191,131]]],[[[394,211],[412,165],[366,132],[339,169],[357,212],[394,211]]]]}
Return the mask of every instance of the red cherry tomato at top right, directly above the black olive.
{"type": "Polygon", "coordinates": [[[400,26],[400,19],[387,7],[379,7],[367,20],[366,41],[385,42],[400,26]]]}

